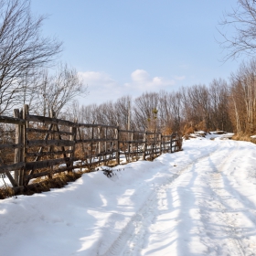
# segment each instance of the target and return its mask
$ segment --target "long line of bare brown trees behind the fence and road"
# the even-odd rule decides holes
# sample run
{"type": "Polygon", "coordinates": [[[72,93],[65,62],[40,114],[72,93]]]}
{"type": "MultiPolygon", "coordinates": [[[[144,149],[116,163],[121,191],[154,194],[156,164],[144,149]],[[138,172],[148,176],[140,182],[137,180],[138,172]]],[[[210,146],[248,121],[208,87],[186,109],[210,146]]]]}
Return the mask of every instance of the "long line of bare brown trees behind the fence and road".
{"type": "Polygon", "coordinates": [[[151,132],[221,130],[251,135],[256,133],[256,59],[242,62],[229,83],[214,79],[208,86],[144,92],[134,99],[127,95],[99,105],[73,101],[66,116],[80,123],[118,124],[122,129],[151,132]]]}

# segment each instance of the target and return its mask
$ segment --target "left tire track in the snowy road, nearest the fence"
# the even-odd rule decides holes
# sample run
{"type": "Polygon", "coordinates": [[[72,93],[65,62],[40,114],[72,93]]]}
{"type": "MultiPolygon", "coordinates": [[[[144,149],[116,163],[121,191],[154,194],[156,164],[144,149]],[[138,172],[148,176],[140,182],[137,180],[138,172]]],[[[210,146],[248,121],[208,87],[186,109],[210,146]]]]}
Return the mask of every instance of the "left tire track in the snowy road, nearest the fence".
{"type": "Polygon", "coordinates": [[[213,152],[191,161],[182,169],[177,170],[175,175],[167,178],[165,183],[156,186],[150,193],[149,197],[145,199],[143,206],[127,222],[118,238],[112,242],[109,249],[103,254],[98,255],[136,255],[135,253],[139,253],[139,251],[143,249],[144,236],[147,233],[147,229],[158,215],[157,205],[158,199],[161,198],[161,194],[173,186],[174,181],[189,171],[192,165],[197,165],[200,161],[208,159],[208,157],[214,155],[218,151],[219,148],[214,147],[213,152]]]}

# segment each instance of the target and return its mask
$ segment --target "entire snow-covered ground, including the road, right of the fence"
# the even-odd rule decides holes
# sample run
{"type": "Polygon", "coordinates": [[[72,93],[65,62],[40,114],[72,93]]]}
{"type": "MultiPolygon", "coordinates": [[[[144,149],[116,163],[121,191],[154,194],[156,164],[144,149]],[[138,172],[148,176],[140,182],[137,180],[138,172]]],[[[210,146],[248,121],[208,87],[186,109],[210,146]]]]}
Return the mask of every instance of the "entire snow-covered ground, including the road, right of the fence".
{"type": "Polygon", "coordinates": [[[256,145],[183,148],[0,201],[0,255],[256,255],[256,145]]]}

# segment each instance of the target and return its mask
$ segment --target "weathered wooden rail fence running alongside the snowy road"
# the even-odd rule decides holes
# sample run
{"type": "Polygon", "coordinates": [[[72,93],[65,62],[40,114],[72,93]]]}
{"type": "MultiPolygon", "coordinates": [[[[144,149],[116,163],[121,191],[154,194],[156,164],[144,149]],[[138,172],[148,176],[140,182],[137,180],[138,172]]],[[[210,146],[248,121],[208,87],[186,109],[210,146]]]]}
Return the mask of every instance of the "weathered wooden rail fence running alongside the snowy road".
{"type": "Polygon", "coordinates": [[[0,116],[0,175],[5,174],[15,192],[41,176],[53,177],[75,168],[89,171],[99,165],[120,165],[154,159],[182,150],[177,134],[126,131],[119,126],[69,122],[29,114],[28,106],[14,117],[0,116]]]}

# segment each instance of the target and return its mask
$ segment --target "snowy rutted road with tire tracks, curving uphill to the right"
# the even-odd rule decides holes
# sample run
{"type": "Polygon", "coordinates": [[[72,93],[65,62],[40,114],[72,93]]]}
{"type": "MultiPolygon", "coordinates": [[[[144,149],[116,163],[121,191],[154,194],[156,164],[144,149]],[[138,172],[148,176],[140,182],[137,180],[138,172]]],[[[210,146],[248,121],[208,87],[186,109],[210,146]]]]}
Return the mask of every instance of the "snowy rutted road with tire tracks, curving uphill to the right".
{"type": "Polygon", "coordinates": [[[255,204],[223,175],[240,154],[220,147],[155,187],[102,255],[256,255],[255,204]]]}

